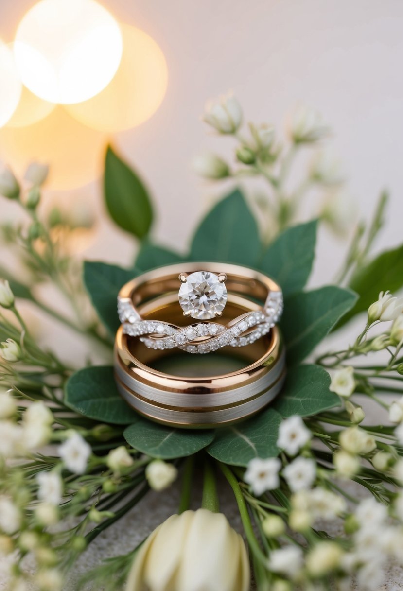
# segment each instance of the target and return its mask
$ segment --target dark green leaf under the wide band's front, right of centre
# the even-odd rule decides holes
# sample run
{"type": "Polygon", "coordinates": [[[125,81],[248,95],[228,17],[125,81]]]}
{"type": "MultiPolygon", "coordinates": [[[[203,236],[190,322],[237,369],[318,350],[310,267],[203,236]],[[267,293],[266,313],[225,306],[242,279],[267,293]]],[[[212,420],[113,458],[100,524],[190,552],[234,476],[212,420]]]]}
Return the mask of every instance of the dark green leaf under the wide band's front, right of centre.
{"type": "Polygon", "coordinates": [[[253,457],[275,457],[281,415],[268,408],[245,423],[217,429],[213,443],[207,448],[210,456],[233,466],[246,466],[253,457]]]}

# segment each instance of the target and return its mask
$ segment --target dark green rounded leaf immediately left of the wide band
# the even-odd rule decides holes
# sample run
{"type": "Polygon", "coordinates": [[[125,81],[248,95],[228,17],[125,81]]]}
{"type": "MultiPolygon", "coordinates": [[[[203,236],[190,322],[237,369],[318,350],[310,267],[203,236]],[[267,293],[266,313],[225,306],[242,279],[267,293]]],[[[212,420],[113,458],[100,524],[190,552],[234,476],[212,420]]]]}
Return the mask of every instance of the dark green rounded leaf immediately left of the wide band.
{"type": "Polygon", "coordinates": [[[64,401],[77,413],[103,423],[127,425],[137,418],[119,396],[110,366],[84,368],[73,374],[67,380],[64,401]]]}

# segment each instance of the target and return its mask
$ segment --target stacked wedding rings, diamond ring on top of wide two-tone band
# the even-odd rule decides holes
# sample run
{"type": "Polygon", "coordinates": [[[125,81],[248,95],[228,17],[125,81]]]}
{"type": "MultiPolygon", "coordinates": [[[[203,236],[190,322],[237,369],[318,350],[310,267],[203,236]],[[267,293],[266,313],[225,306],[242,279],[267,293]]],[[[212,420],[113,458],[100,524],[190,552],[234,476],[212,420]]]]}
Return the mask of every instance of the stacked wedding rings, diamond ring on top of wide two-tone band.
{"type": "Polygon", "coordinates": [[[191,428],[231,424],[264,408],[281,390],[285,352],[275,326],[282,311],[280,288],[251,269],[226,265],[223,273],[216,267],[189,264],[184,272],[170,265],[119,292],[116,385],[128,404],[151,420],[191,428]],[[184,317],[200,322],[183,327],[184,317]],[[204,358],[208,375],[195,368],[199,356],[187,361],[187,352],[213,351],[220,356],[211,364],[204,358]],[[214,371],[217,360],[225,365],[221,354],[228,352],[239,368],[214,371]],[[178,372],[183,375],[156,369],[178,360],[184,362],[178,372]]]}

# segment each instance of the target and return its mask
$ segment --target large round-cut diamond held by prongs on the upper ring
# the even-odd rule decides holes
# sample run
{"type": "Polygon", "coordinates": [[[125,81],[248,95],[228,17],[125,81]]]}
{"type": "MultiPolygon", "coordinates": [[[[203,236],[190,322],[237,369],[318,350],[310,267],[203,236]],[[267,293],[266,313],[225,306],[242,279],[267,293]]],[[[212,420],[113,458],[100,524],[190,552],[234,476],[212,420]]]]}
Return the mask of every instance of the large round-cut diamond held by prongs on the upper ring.
{"type": "Polygon", "coordinates": [[[197,271],[187,275],[178,297],[185,314],[197,320],[208,320],[223,311],[227,288],[214,273],[197,271]]]}

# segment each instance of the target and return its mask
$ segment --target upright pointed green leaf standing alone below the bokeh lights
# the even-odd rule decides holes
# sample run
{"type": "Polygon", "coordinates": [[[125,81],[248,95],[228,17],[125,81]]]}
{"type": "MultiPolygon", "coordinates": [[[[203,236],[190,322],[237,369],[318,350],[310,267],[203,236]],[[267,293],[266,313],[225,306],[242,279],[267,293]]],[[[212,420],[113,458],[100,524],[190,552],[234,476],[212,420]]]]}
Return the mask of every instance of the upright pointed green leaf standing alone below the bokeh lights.
{"type": "Polygon", "coordinates": [[[137,238],[147,236],[152,223],[152,206],[147,189],[130,168],[108,146],[105,158],[105,200],[112,219],[137,238]]]}

